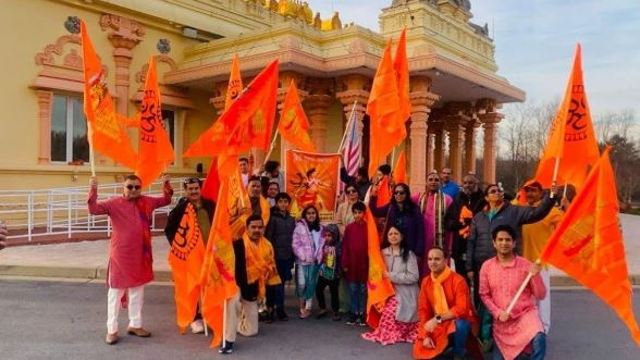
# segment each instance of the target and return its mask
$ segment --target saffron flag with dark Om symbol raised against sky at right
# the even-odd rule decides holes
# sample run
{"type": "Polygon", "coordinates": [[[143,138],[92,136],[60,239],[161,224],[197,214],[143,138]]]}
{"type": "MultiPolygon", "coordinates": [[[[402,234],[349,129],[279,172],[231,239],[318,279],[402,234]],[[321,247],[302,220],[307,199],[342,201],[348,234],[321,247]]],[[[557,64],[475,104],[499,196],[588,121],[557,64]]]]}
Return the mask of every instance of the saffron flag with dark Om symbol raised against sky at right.
{"type": "Polygon", "coordinates": [[[550,187],[554,181],[558,184],[573,184],[579,191],[589,167],[598,161],[599,156],[582,79],[582,50],[578,45],[565,98],[551,126],[549,142],[540,158],[536,179],[544,187],[550,187]],[[559,159],[557,179],[553,178],[556,159],[559,159]]]}

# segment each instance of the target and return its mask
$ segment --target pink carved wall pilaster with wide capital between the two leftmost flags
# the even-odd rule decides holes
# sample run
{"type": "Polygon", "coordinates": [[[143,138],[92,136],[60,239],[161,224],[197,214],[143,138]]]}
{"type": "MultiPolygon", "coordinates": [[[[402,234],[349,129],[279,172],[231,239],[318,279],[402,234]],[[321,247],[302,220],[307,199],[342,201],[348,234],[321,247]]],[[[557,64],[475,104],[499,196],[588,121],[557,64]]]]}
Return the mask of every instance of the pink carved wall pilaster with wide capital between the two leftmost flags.
{"type": "Polygon", "coordinates": [[[103,14],[100,17],[102,30],[111,29],[108,35],[113,46],[113,61],[115,62],[115,107],[118,112],[128,115],[130,67],[135,48],[145,36],[140,24],[127,17],[103,14]]]}

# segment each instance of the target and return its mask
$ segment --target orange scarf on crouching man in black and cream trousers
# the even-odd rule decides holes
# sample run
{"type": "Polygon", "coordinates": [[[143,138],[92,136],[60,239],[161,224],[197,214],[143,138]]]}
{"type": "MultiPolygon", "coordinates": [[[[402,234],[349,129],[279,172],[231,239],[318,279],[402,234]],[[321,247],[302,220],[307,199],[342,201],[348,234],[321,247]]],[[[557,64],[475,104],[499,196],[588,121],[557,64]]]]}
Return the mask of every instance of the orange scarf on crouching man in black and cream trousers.
{"type": "Polygon", "coordinates": [[[258,297],[264,298],[267,285],[281,283],[275,268],[273,247],[263,237],[258,243],[254,243],[247,234],[243,235],[243,241],[245,245],[247,283],[258,282],[258,297]]]}

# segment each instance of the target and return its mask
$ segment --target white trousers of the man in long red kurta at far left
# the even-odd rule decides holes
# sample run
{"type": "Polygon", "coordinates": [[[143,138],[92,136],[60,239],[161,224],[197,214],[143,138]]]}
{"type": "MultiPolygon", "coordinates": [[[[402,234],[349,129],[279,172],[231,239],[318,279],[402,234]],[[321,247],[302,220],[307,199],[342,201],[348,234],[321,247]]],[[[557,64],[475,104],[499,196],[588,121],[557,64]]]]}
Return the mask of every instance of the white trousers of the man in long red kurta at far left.
{"type": "MultiPolygon", "coordinates": [[[[110,287],[107,291],[107,332],[109,334],[118,333],[118,315],[120,314],[120,299],[124,295],[125,288],[110,287]]],[[[128,326],[143,327],[143,302],[145,296],[145,285],[128,288],[128,326]]]]}

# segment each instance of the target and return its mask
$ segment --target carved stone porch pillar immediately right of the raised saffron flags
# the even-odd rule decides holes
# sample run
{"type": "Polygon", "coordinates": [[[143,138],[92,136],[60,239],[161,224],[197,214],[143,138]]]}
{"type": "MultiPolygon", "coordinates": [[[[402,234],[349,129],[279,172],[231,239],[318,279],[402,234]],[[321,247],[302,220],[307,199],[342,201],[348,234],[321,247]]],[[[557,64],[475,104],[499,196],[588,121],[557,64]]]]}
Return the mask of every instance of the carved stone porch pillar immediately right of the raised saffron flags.
{"type": "Polygon", "coordinates": [[[423,191],[427,186],[429,157],[428,120],[431,107],[440,97],[429,91],[431,79],[417,76],[410,79],[411,123],[409,125],[409,187],[411,193],[423,191]]]}

